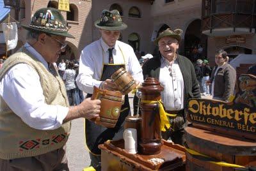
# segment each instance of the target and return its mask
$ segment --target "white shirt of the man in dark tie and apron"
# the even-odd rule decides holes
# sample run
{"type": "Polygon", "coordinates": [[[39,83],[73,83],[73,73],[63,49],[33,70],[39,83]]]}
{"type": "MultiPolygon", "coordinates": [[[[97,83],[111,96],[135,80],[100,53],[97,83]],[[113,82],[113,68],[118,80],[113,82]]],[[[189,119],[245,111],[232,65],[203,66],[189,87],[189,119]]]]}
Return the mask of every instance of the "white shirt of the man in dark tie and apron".
{"type": "MultiPolygon", "coordinates": [[[[93,86],[99,87],[102,75],[103,63],[108,64],[108,45],[100,38],[86,46],[80,56],[79,74],[76,83],[79,89],[86,93],[93,93],[93,86]]],[[[140,63],[130,45],[122,41],[116,41],[113,49],[114,64],[124,64],[134,80],[143,82],[143,75],[140,63]]]]}

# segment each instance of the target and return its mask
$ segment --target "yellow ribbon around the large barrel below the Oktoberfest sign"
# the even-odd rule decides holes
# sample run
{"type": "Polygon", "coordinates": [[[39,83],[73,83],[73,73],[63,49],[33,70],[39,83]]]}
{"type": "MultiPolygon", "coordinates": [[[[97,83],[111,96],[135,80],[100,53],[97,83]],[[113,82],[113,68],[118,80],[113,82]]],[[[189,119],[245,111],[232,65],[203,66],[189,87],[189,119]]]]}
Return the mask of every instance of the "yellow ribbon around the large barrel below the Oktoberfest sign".
{"type": "Polygon", "coordinates": [[[219,166],[221,166],[221,167],[246,168],[246,167],[241,166],[241,165],[226,163],[226,162],[224,162],[224,161],[211,161],[211,160],[212,160],[212,157],[210,157],[210,156],[207,156],[207,155],[205,155],[205,154],[201,154],[201,153],[199,153],[199,152],[197,152],[197,151],[193,151],[192,149],[189,149],[189,148],[187,148],[187,147],[185,147],[185,149],[186,149],[186,151],[188,151],[190,154],[195,155],[195,156],[203,156],[203,157],[205,157],[206,160],[209,160],[209,161],[207,161],[207,162],[213,163],[213,164],[215,164],[215,165],[219,165],[219,166]]]}

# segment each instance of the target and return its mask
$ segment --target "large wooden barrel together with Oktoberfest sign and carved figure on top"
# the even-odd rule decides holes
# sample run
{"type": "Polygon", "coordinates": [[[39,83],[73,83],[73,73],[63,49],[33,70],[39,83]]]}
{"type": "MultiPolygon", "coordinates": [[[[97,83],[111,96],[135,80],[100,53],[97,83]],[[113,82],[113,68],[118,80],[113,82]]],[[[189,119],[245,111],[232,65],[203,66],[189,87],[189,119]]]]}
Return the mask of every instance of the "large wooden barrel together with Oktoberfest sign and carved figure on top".
{"type": "Polygon", "coordinates": [[[186,170],[256,167],[256,77],[241,75],[234,101],[188,101],[186,170]]]}

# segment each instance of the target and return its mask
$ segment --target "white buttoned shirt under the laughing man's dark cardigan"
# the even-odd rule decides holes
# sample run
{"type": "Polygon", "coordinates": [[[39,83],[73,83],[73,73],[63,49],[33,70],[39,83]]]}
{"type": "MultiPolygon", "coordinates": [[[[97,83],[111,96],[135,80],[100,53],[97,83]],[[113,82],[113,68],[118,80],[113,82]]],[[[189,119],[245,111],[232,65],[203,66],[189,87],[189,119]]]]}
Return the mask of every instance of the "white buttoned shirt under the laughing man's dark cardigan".
{"type": "Polygon", "coordinates": [[[166,110],[182,110],[184,108],[184,80],[179,64],[172,64],[161,57],[159,82],[164,87],[161,98],[166,110]]]}

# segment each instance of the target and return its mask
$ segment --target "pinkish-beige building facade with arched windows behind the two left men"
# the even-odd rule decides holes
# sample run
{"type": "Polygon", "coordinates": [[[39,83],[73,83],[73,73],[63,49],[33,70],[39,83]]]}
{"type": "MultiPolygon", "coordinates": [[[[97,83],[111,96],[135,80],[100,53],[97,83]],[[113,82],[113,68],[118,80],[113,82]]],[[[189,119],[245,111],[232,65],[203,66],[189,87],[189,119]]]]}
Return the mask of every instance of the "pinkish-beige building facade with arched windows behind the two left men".
{"type": "MultiPolygon", "coordinates": [[[[69,33],[76,39],[67,38],[68,46],[61,54],[60,59],[79,59],[83,48],[100,38],[99,29],[94,26],[94,22],[100,19],[102,10],[118,9],[122,19],[128,28],[122,31],[120,40],[129,43],[134,50],[150,52],[152,42],[150,42],[150,1],[125,0],[122,1],[90,1],[90,0],[70,0],[70,12],[61,11],[67,20],[69,33]]],[[[20,1],[20,24],[28,25],[31,15],[44,7],[58,8],[58,1],[31,0],[20,1]],[[22,10],[21,10],[22,9],[22,10]]],[[[14,11],[12,10],[14,16],[14,11]]],[[[17,48],[26,42],[26,29],[19,27],[19,43],[17,48]]],[[[15,50],[17,50],[17,48],[15,50]]]]}

